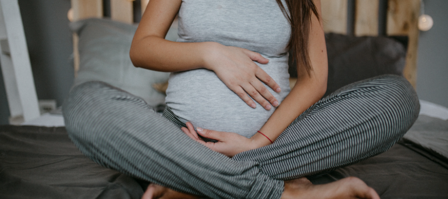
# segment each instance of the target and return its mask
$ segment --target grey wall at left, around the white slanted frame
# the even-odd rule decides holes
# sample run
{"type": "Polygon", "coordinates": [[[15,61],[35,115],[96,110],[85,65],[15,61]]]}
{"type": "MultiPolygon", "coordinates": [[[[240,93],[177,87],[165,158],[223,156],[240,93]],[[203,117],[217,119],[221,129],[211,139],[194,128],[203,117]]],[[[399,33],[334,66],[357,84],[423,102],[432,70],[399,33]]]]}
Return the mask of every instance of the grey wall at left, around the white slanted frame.
{"type": "MultiPolygon", "coordinates": [[[[18,0],[29,58],[39,100],[61,105],[73,84],[72,34],[67,11],[70,0],[18,0]]],[[[0,124],[8,123],[9,109],[0,77],[0,124]]]]}

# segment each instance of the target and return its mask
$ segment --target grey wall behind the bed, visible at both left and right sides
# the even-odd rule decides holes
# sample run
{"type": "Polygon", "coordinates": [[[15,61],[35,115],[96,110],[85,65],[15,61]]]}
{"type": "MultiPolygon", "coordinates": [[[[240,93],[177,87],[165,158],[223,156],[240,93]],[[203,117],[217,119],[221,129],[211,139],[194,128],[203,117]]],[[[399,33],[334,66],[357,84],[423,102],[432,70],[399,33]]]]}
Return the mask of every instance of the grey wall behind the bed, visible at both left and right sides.
{"type": "MultiPolygon", "coordinates": [[[[354,1],[349,2],[352,8],[354,1]]],[[[448,107],[448,1],[424,2],[425,13],[434,18],[435,25],[427,32],[420,32],[417,93],[422,100],[448,107]]],[[[386,6],[385,0],[380,3],[386,6]]],[[[41,100],[56,99],[61,105],[73,83],[72,34],[67,25],[70,0],[19,0],[19,6],[37,96],[41,100]]],[[[0,76],[0,124],[7,123],[8,115],[0,76]]]]}

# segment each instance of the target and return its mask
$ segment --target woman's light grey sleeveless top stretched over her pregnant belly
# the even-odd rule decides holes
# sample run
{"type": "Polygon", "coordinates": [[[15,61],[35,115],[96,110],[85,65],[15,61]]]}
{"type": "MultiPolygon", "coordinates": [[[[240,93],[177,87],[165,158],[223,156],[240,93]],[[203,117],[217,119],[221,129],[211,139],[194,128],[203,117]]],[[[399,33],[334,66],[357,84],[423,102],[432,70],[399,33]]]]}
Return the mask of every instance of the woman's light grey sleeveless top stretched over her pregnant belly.
{"type": "MultiPolygon", "coordinates": [[[[286,6],[286,4],[284,3],[286,6]]],[[[282,89],[268,90],[281,102],[290,92],[287,45],[291,26],[275,0],[183,0],[178,42],[214,41],[246,48],[269,59],[259,64],[282,89]]],[[[251,108],[207,69],[172,73],[167,105],[196,127],[251,137],[275,108],[251,108]]]]}

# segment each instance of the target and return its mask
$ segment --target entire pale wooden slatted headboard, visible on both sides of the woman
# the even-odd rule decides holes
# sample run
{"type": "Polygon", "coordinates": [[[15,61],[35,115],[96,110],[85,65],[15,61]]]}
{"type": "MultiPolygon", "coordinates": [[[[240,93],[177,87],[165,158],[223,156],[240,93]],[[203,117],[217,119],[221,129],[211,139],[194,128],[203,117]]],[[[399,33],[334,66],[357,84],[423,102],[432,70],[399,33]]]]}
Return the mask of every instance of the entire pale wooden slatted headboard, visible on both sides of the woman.
{"type": "MultiPolygon", "coordinates": [[[[133,23],[134,0],[110,0],[112,20],[133,23]]],[[[72,20],[103,17],[103,0],[71,0],[72,20]]],[[[140,0],[141,13],[149,0],[140,0]]],[[[347,34],[348,0],[321,0],[325,32],[347,34]]],[[[355,0],[353,34],[355,36],[378,36],[379,0],[355,0]]],[[[386,12],[386,35],[408,36],[408,52],[404,76],[414,86],[417,78],[417,27],[420,0],[388,0],[386,12]]],[[[75,74],[79,69],[78,37],[74,35],[75,74]]]]}

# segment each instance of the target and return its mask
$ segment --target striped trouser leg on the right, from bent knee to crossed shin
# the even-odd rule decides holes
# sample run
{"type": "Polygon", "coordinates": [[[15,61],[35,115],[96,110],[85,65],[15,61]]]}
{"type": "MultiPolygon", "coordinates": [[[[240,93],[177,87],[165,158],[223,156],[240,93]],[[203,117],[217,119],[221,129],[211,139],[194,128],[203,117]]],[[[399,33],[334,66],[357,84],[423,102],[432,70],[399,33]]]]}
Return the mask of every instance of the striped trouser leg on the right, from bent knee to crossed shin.
{"type": "Polygon", "coordinates": [[[384,75],[337,90],[302,113],[273,144],[233,157],[256,161],[274,179],[331,171],[385,152],[418,117],[413,87],[384,75]]]}

